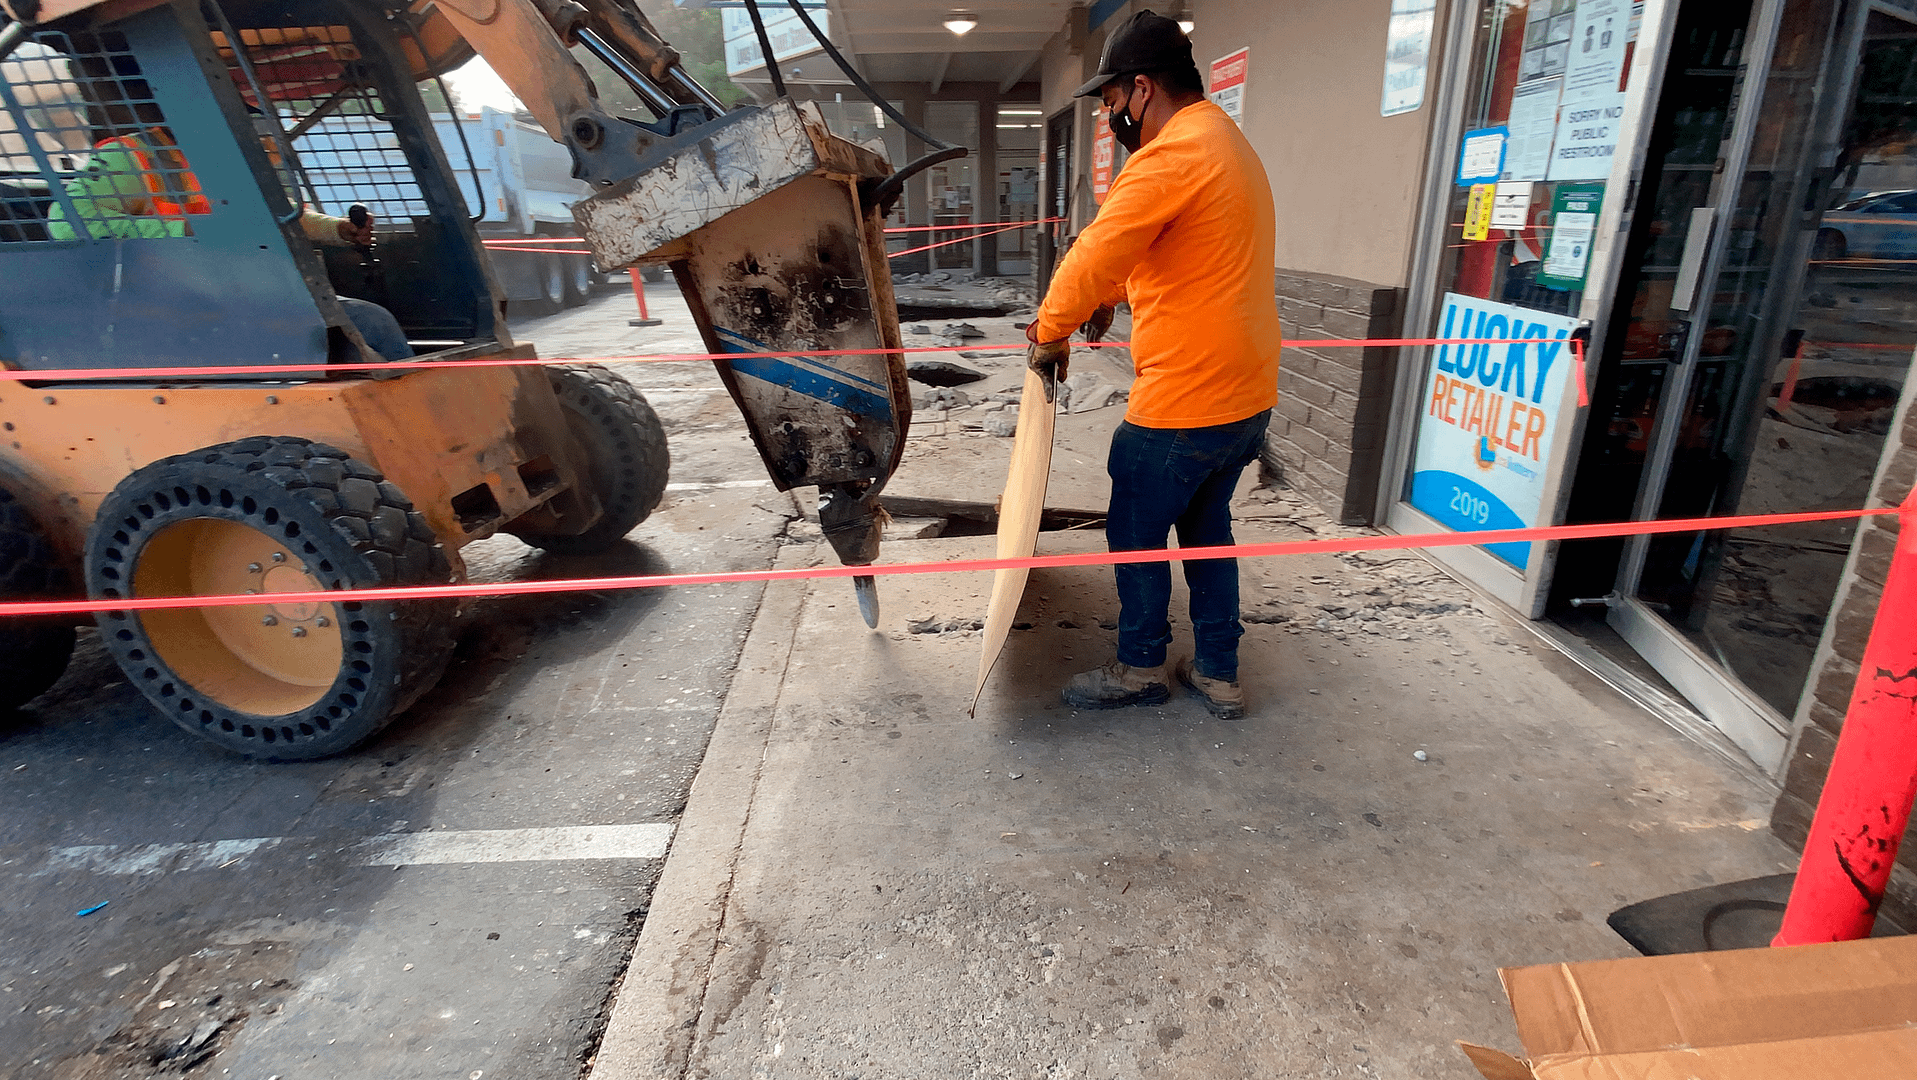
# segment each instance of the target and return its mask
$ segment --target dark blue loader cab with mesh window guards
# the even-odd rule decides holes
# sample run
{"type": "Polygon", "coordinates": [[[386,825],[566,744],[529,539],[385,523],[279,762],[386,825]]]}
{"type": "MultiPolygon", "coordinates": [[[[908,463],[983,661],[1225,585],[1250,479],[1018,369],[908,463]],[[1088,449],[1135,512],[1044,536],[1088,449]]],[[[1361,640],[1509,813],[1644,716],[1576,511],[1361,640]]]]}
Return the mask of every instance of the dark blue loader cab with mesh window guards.
{"type": "Polygon", "coordinates": [[[36,29],[0,61],[0,366],[378,359],[339,297],[422,353],[510,347],[403,17],[173,0],[36,29]],[[355,203],[372,253],[309,217],[355,203]]]}

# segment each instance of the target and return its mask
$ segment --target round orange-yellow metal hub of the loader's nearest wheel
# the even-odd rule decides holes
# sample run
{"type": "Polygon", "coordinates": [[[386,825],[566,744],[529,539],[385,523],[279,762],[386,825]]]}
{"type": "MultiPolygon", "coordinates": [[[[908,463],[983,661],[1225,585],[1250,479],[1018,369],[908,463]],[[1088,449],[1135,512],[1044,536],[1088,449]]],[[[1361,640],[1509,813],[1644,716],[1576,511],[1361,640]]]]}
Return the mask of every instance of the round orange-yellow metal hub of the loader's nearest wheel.
{"type": "MultiPolygon", "coordinates": [[[[134,566],[136,597],[309,593],[322,585],[307,564],[251,526],[194,518],[163,528],[134,566]]],[[[318,702],[339,677],[345,648],[339,606],[236,604],[142,612],[159,658],[188,685],[230,710],[286,716],[318,702]]]]}

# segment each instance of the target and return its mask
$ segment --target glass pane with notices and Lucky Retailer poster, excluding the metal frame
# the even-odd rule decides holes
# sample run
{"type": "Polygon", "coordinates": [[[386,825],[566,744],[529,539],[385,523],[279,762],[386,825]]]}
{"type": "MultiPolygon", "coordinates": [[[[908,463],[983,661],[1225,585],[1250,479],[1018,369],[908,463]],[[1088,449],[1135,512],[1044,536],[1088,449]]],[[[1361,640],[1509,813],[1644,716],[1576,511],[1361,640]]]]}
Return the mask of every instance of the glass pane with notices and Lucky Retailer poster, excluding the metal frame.
{"type": "MultiPolygon", "coordinates": [[[[1629,0],[1490,0],[1478,10],[1451,167],[1436,338],[1537,340],[1430,353],[1407,501],[1461,529],[1545,516],[1591,240],[1624,129],[1639,12],[1629,0]]],[[[1490,545],[1514,570],[1532,545],[1490,545]]]]}

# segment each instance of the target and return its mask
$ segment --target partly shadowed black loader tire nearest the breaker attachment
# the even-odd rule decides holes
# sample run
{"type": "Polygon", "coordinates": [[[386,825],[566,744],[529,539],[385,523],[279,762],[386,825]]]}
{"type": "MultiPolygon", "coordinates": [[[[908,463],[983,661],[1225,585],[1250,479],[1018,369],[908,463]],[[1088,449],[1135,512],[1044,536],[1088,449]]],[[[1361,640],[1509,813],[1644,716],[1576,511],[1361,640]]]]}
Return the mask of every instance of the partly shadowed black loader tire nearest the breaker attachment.
{"type": "Polygon", "coordinates": [[[671,453],[665,426],[638,389],[600,364],[546,364],[566,426],[592,462],[589,483],[604,514],[581,533],[508,531],[554,554],[606,551],[646,520],[665,495],[671,453]]]}

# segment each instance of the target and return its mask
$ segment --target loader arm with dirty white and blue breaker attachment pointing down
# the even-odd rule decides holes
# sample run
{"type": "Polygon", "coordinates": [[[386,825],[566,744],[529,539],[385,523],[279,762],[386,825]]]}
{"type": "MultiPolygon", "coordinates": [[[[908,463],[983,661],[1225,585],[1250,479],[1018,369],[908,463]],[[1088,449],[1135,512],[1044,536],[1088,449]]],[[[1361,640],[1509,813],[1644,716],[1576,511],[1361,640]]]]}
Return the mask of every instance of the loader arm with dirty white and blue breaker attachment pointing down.
{"type": "MultiPolygon", "coordinates": [[[[631,0],[420,0],[414,13],[450,23],[567,146],[594,188],[573,219],[600,270],[671,267],[707,349],[746,353],[715,366],[767,472],[780,489],[819,487],[840,560],[870,564],[911,422],[880,205],[903,176],[790,98],[723,109],[631,0]],[[656,119],[606,113],[573,44],[656,119]]],[[[872,623],[870,577],[859,599],[872,623]]]]}

